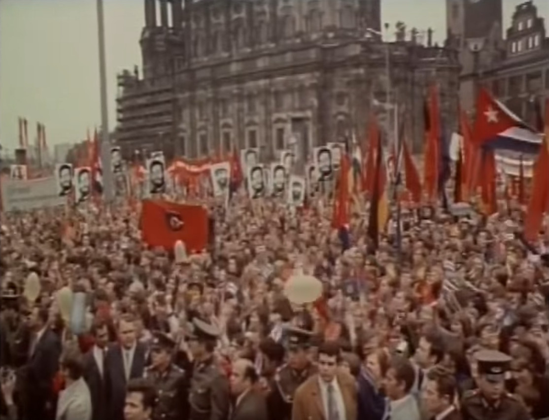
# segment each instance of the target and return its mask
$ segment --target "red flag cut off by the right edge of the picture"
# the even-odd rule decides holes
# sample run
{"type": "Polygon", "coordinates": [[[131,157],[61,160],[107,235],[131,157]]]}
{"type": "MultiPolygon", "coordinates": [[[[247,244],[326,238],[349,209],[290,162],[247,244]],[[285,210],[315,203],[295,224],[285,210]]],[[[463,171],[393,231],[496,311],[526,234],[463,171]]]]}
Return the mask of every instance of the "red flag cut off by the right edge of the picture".
{"type": "Polygon", "coordinates": [[[534,242],[541,229],[543,216],[549,211],[549,99],[545,102],[545,138],[534,165],[532,191],[524,218],[524,238],[534,242]]]}

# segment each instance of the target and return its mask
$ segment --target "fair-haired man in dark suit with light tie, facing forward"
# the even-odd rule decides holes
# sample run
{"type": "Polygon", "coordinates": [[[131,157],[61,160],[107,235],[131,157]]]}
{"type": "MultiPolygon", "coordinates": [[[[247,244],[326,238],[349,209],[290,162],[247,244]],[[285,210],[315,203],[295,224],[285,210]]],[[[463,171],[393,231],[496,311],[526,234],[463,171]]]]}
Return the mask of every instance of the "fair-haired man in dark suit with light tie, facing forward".
{"type": "Polygon", "coordinates": [[[136,318],[123,315],[117,326],[119,343],[111,346],[105,356],[105,388],[109,420],[124,418],[124,399],[128,379],[141,378],[145,370],[147,351],[138,343],[136,318]]]}

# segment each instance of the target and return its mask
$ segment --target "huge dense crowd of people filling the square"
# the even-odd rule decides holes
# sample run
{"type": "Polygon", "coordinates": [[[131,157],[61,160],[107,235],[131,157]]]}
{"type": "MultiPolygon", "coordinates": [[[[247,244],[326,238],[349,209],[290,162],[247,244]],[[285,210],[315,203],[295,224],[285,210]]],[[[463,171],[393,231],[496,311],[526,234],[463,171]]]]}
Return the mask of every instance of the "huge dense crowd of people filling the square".
{"type": "Polygon", "coordinates": [[[126,203],[3,214],[1,416],[547,418],[549,224],[528,249],[520,208],[503,208],[408,209],[374,248],[367,209],[344,243],[326,198],[295,210],[236,194],[210,209],[209,249],[184,259],[148,249],[126,203]],[[299,276],[320,299],[292,301],[299,276]]]}

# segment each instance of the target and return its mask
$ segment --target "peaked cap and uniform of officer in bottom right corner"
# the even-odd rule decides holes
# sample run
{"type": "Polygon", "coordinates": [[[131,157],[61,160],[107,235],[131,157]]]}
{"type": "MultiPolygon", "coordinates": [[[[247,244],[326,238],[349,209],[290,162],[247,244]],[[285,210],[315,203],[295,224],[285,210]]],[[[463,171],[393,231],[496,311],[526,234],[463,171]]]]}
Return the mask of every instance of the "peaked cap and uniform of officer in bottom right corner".
{"type": "MultiPolygon", "coordinates": [[[[475,355],[479,378],[491,383],[505,381],[511,357],[494,350],[481,350],[475,355]]],[[[530,420],[523,404],[513,395],[503,393],[490,401],[481,389],[466,391],[461,402],[463,420],[530,420]]]]}

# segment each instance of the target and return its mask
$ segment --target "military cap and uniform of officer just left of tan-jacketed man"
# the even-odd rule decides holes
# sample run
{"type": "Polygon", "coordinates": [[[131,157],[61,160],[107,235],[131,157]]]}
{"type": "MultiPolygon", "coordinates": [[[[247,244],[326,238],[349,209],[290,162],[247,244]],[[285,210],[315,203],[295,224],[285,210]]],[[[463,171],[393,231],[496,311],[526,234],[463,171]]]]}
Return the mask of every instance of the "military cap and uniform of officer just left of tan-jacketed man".
{"type": "MultiPolygon", "coordinates": [[[[308,349],[311,333],[299,328],[288,330],[288,346],[290,349],[308,349]]],[[[316,373],[316,366],[310,364],[305,369],[297,371],[289,365],[282,365],[277,369],[274,385],[267,396],[267,408],[272,420],[290,420],[295,391],[312,374],[316,373]]]]}

